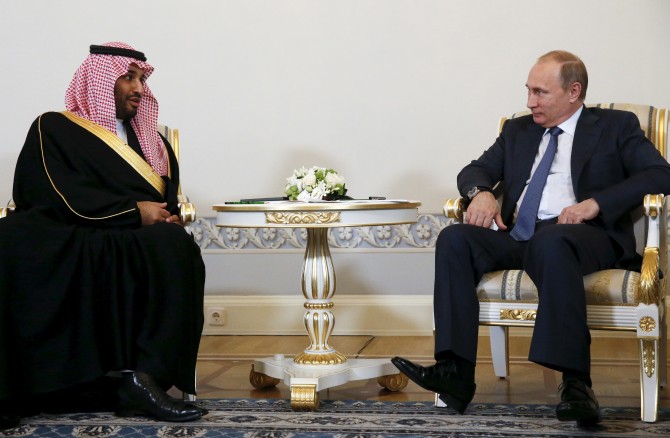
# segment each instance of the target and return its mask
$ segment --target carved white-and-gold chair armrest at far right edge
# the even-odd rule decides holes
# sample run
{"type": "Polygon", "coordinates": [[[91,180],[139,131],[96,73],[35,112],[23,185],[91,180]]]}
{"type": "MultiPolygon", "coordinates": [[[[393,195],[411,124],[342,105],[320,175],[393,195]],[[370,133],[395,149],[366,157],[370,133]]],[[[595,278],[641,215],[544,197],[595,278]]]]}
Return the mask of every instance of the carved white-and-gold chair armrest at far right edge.
{"type": "Polygon", "coordinates": [[[667,275],[667,221],[663,214],[663,195],[644,197],[644,214],[647,217],[647,241],[642,255],[640,282],[635,290],[635,302],[659,305],[665,291],[661,288],[661,279],[667,275]]]}

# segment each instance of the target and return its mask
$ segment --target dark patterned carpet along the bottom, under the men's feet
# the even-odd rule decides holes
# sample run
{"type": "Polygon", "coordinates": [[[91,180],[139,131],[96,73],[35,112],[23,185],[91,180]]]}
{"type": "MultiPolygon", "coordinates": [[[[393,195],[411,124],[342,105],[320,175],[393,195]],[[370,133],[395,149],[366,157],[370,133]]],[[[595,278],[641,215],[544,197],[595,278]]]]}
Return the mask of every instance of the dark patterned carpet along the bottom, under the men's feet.
{"type": "Polygon", "coordinates": [[[111,413],[39,415],[0,436],[34,437],[667,437],[670,411],[656,423],[639,409],[604,408],[598,428],[556,420],[554,406],[472,404],[465,415],[428,402],[321,401],[317,412],[293,411],[288,400],[202,400],[209,415],[192,423],[117,418],[111,413]]]}

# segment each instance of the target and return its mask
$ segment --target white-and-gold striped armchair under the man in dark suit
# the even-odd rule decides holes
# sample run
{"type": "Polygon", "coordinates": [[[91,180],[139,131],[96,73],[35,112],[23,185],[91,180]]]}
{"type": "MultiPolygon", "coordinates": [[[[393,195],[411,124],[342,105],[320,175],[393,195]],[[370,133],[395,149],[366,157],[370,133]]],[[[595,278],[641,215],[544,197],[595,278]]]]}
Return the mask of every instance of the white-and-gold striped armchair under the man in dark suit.
{"type": "MultiPolygon", "coordinates": [[[[667,109],[637,104],[593,104],[635,113],[645,135],[667,159],[667,109]]],[[[529,114],[515,113],[509,118],[529,114]]],[[[502,129],[508,117],[498,125],[502,129]]],[[[670,198],[670,197],[669,197],[670,198]]],[[[668,293],[668,198],[648,194],[632,213],[641,272],[608,269],[584,277],[587,320],[591,330],[631,332],[640,353],[641,418],[656,421],[659,387],[667,378],[666,295],[668,293]]],[[[444,214],[455,222],[463,218],[463,199],[448,199],[444,214]]],[[[477,285],[479,324],[489,326],[494,372],[509,375],[510,327],[532,327],[537,313],[537,288],[521,270],[489,272],[477,285]]],[[[440,405],[436,397],[436,404],[440,405]]]]}

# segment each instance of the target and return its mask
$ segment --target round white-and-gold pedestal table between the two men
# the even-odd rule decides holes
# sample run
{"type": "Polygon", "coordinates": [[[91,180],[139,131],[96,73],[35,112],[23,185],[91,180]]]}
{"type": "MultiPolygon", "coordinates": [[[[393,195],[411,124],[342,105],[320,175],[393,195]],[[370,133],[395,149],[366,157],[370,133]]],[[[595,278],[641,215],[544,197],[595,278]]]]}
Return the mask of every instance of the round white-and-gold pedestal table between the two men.
{"type": "Polygon", "coordinates": [[[407,377],[389,359],[348,359],[328,344],[335,318],[335,268],[328,246],[328,228],[414,223],[417,201],[337,201],[305,203],[277,201],[256,204],[216,204],[216,225],[239,228],[305,228],[307,242],[302,267],[305,329],[310,345],[303,353],[259,359],[250,380],[256,388],[277,385],[291,388],[293,409],[316,410],[318,392],[354,380],[377,378],[392,391],[403,389],[407,377]]]}

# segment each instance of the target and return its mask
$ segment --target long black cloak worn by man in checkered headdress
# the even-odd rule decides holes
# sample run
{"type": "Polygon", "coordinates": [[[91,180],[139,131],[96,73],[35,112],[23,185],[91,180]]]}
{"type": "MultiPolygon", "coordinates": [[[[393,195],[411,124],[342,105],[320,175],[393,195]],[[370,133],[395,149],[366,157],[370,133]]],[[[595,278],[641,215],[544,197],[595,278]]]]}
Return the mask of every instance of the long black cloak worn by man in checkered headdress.
{"type": "Polygon", "coordinates": [[[205,268],[178,225],[141,225],[138,201],[177,212],[178,165],[161,194],[61,113],[30,128],[0,220],[0,401],[144,371],[195,393],[205,268]]]}

